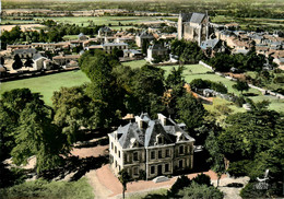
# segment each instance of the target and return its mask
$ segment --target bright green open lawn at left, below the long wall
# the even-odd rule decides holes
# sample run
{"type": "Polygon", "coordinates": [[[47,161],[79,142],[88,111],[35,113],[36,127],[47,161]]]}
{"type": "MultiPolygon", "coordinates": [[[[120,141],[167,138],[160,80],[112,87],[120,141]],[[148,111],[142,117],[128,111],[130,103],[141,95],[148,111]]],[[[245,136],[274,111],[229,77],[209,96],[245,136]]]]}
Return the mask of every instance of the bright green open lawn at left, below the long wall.
{"type": "Polygon", "coordinates": [[[51,106],[51,96],[54,91],[58,91],[62,86],[71,87],[74,85],[81,85],[85,82],[90,82],[85,73],[83,73],[81,70],[75,70],[70,72],[43,75],[38,78],[3,82],[0,84],[0,94],[13,89],[28,87],[32,90],[32,92],[39,92],[42,95],[44,95],[43,99],[45,103],[51,106]]]}

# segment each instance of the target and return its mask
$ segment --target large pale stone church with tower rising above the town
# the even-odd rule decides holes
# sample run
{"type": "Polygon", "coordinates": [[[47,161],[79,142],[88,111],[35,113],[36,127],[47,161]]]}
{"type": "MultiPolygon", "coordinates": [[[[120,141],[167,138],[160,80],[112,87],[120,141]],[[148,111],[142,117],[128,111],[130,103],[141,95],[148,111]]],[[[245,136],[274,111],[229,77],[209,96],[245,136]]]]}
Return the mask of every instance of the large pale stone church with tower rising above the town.
{"type": "Polygon", "coordinates": [[[209,16],[204,13],[180,13],[178,17],[178,39],[201,42],[212,33],[209,16]]]}

